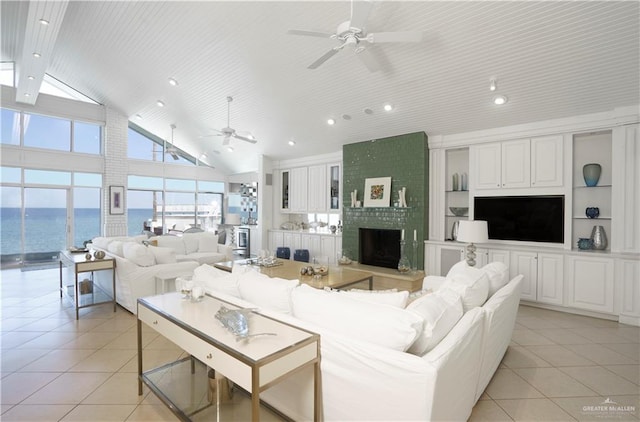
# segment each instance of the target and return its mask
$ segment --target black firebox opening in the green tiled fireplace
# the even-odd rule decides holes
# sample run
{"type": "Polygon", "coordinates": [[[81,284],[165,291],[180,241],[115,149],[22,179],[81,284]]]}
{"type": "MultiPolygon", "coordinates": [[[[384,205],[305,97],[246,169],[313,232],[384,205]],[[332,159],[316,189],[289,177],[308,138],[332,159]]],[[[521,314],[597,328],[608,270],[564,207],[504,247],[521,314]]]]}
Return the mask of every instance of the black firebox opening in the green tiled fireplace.
{"type": "Polygon", "coordinates": [[[398,268],[400,230],[359,229],[358,262],[376,267],[398,268]]]}

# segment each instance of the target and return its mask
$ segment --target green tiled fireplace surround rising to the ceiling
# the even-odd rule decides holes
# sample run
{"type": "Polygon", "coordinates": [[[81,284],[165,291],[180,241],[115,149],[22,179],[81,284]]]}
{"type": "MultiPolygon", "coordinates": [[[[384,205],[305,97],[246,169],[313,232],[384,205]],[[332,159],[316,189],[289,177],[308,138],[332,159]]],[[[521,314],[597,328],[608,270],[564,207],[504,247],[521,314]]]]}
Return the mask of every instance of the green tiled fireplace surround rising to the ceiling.
{"type": "Polygon", "coordinates": [[[358,259],[358,228],[405,229],[406,253],[412,259],[413,231],[418,238],[418,269],[424,268],[424,239],[429,224],[429,147],[424,132],[347,144],[343,159],[342,249],[358,259]],[[391,207],[351,208],[351,192],[363,201],[365,179],[391,177],[391,207]],[[406,187],[407,208],[396,208],[398,190],[406,187]]]}

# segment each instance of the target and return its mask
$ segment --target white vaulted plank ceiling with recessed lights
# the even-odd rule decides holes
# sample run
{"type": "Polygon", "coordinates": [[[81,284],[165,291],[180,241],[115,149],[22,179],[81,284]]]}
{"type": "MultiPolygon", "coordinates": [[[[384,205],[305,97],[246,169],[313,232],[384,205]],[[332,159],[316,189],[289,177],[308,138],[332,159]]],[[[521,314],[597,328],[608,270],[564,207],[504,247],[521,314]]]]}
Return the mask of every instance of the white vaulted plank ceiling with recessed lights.
{"type": "Polygon", "coordinates": [[[26,76],[37,83],[46,72],[162,138],[175,124],[179,148],[238,173],[255,170],[259,154],[286,159],[402,133],[637,105],[639,5],[375,1],[367,33],[422,31],[423,41],[368,45],[380,66],[371,72],[350,46],[308,69],[338,41],[287,33],[336,32],[350,18],[349,1],[2,0],[2,60],[16,62],[19,101],[33,89],[26,76]],[[508,102],[493,104],[496,93],[508,102]],[[257,144],[232,139],[228,152],[222,137],[207,136],[227,126],[227,96],[231,127],[257,144]]]}

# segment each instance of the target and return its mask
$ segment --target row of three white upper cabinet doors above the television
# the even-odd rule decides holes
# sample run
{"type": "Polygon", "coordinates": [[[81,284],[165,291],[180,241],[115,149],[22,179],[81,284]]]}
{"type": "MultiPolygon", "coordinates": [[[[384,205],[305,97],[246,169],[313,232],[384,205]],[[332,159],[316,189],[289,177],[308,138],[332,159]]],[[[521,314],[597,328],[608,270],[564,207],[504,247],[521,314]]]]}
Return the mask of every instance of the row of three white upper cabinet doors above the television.
{"type": "Polygon", "coordinates": [[[563,185],[563,138],[544,136],[471,147],[476,189],[563,185]]]}

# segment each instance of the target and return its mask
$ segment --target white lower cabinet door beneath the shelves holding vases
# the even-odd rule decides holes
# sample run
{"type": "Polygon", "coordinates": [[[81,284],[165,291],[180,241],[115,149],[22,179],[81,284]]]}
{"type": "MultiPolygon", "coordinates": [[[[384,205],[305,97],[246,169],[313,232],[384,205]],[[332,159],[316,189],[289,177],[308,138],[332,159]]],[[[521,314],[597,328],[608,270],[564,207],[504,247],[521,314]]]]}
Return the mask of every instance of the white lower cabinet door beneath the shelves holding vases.
{"type": "Polygon", "coordinates": [[[569,255],[566,260],[567,305],[589,311],[613,313],[613,259],[585,253],[582,256],[569,255]]]}

